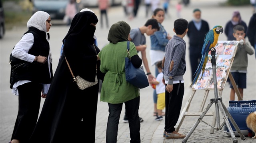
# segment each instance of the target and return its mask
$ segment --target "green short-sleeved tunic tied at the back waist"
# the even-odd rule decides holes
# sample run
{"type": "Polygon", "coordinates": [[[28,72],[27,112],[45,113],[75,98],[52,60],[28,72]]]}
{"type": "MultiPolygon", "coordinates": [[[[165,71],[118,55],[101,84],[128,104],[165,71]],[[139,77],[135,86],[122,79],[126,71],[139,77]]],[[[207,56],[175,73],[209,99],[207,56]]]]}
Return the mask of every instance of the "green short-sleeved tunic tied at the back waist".
{"type": "MultiPolygon", "coordinates": [[[[138,55],[134,43],[130,42],[130,57],[138,55]]],[[[140,96],[140,89],[125,78],[127,41],[109,43],[99,53],[100,71],[105,74],[100,92],[100,101],[119,104],[140,96]]]]}

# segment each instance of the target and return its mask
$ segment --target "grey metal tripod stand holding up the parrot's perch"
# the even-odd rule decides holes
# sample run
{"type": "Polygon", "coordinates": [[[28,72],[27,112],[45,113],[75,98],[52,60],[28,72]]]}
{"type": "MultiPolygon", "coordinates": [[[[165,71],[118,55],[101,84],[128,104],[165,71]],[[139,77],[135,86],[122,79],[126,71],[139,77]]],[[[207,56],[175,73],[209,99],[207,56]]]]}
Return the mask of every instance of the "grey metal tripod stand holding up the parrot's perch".
{"type": "Polygon", "coordinates": [[[234,127],[235,127],[236,131],[238,132],[238,134],[240,135],[241,139],[242,140],[246,139],[246,137],[244,137],[244,135],[241,133],[238,125],[236,124],[236,122],[232,118],[231,114],[228,112],[228,109],[222,103],[222,98],[218,97],[215,53],[216,53],[216,49],[214,47],[212,47],[211,48],[211,56],[212,56],[211,63],[212,63],[212,74],[213,74],[213,82],[214,82],[214,98],[210,99],[210,103],[204,109],[204,111],[202,112],[202,114],[200,115],[200,117],[198,118],[196,123],[193,125],[193,127],[190,129],[190,131],[186,135],[186,137],[182,140],[182,143],[186,143],[188,141],[188,138],[193,133],[193,131],[196,129],[196,127],[200,123],[200,121],[202,121],[203,123],[206,123],[207,125],[211,126],[214,129],[216,129],[216,131],[221,130],[221,127],[220,127],[220,112],[219,112],[219,110],[222,113],[222,116],[223,116],[223,118],[225,120],[225,123],[226,123],[226,125],[228,127],[228,130],[230,131],[230,135],[232,137],[233,143],[237,143],[238,141],[237,141],[237,139],[236,139],[236,137],[234,135],[234,132],[233,132],[231,126],[230,126],[230,123],[229,123],[228,119],[230,119],[232,125],[234,125],[234,127]],[[208,110],[210,109],[210,107],[212,106],[213,103],[215,103],[215,113],[216,113],[217,127],[213,127],[212,125],[210,125],[206,121],[202,120],[204,118],[204,116],[206,115],[206,113],[208,112],[208,110]]]}

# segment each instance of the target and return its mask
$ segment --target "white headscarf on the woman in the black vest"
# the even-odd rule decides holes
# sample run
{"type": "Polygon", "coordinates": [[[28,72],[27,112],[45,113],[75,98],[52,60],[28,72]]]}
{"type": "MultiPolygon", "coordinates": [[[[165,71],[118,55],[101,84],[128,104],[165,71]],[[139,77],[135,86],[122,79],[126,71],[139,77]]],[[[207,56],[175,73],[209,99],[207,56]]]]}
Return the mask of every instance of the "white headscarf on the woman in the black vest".
{"type": "Polygon", "coordinates": [[[48,20],[49,17],[50,15],[47,12],[38,11],[28,20],[27,27],[35,27],[46,32],[46,20],[48,20]]]}

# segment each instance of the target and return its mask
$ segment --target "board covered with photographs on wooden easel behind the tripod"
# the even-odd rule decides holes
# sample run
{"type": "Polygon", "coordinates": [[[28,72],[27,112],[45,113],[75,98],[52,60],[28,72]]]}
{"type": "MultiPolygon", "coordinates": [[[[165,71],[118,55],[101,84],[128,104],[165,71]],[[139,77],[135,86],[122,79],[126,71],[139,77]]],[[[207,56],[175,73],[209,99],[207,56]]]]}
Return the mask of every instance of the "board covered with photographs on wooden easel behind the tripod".
{"type": "MultiPolygon", "coordinates": [[[[218,90],[222,90],[225,87],[238,43],[239,41],[218,41],[215,46],[216,82],[218,90]]],[[[204,73],[201,71],[198,81],[192,86],[194,90],[214,90],[211,59],[211,51],[209,51],[204,73]],[[202,78],[200,80],[201,75],[202,78]]]]}

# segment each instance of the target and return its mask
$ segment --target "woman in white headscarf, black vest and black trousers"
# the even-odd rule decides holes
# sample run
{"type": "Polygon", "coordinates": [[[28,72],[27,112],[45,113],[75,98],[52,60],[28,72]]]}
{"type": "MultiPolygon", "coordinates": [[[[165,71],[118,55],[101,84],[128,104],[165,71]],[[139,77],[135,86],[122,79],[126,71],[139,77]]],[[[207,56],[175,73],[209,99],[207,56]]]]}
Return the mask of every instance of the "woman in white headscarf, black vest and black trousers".
{"type": "Polygon", "coordinates": [[[46,98],[52,81],[52,54],[49,45],[50,15],[38,11],[28,20],[28,31],[10,55],[10,88],[18,95],[19,109],[10,143],[28,143],[38,119],[40,96],[46,98]],[[41,93],[42,92],[42,93],[41,93]]]}

